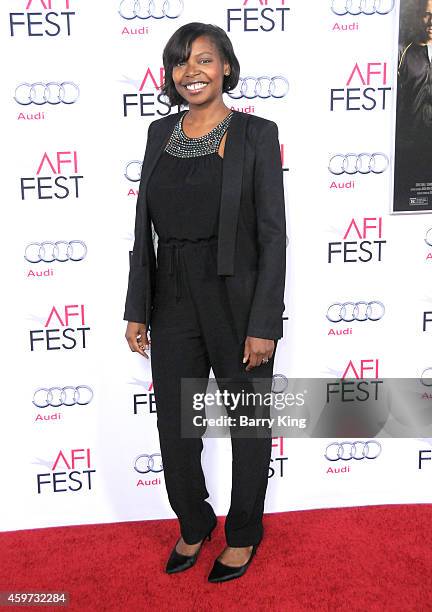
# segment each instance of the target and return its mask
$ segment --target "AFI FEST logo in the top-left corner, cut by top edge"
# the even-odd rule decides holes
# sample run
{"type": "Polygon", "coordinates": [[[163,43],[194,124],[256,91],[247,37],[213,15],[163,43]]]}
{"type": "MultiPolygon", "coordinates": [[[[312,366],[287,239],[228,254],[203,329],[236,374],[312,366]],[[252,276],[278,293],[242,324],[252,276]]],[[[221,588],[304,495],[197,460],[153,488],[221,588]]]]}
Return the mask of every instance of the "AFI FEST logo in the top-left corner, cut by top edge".
{"type": "Polygon", "coordinates": [[[22,4],[22,12],[9,13],[11,36],[71,36],[76,12],[70,9],[77,0],[27,0],[22,4]]]}

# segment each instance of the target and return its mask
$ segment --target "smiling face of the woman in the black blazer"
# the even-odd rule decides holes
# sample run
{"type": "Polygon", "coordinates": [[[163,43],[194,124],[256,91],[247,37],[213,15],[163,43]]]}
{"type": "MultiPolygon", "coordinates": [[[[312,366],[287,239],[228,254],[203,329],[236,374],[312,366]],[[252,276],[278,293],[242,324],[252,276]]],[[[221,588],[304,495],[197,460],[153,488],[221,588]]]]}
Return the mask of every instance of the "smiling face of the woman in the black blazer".
{"type": "Polygon", "coordinates": [[[224,72],[229,72],[216,45],[208,36],[192,43],[189,59],[173,67],[172,78],[178,93],[188,104],[206,104],[222,96],[224,72]]]}

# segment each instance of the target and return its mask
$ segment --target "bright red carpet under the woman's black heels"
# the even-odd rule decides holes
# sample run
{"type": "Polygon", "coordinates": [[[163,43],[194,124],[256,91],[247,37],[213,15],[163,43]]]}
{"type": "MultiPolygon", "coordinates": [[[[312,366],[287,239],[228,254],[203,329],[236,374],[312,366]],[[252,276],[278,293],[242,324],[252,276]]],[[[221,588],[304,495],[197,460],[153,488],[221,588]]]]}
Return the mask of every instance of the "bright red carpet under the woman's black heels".
{"type": "Polygon", "coordinates": [[[173,576],[163,568],[176,521],[1,533],[0,591],[70,594],[68,607],[29,611],[432,611],[429,504],[265,515],[266,535],[247,574],[210,584],[223,521],[195,567],[173,576]]]}

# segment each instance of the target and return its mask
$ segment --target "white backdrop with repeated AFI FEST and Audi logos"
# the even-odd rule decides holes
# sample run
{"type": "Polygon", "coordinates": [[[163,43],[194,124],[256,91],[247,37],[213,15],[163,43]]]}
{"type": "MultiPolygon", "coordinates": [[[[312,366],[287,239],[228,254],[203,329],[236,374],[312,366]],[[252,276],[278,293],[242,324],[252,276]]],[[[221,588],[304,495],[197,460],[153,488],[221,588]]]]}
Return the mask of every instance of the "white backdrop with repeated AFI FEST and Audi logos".
{"type": "MultiPolygon", "coordinates": [[[[1,3],[2,530],[174,517],[151,360],[122,317],[147,129],[178,110],[160,94],[162,50],[191,21],[232,40],[227,106],[279,127],[275,386],[409,377],[427,412],[431,18],[432,2],[408,0],[1,3]]],[[[292,436],[273,439],[266,512],[432,502],[432,437],[292,436]]],[[[229,439],[206,438],[203,465],[223,515],[229,439]]]]}

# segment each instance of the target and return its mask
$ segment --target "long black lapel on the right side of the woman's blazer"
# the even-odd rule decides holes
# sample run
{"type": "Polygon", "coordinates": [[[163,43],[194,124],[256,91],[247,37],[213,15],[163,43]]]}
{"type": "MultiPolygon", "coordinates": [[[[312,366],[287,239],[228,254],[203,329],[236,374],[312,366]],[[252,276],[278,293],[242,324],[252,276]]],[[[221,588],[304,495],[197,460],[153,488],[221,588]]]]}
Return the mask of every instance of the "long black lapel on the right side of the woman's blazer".
{"type": "Polygon", "coordinates": [[[234,274],[247,118],[248,115],[234,111],[225,142],[218,228],[218,275],[232,276],[234,274]]]}

